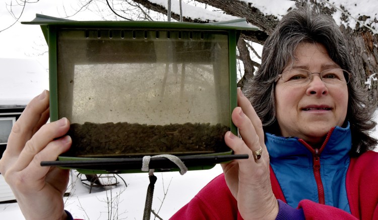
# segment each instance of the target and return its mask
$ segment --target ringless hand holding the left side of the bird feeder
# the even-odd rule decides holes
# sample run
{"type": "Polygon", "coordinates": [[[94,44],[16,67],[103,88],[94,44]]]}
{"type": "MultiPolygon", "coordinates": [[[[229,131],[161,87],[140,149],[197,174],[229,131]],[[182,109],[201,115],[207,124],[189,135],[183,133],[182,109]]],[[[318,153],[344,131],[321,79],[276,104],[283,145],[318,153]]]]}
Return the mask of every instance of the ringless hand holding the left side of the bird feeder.
{"type": "Polygon", "coordinates": [[[26,219],[65,219],[63,195],[69,170],[41,167],[71,146],[66,118],[45,124],[49,118],[49,92],[43,91],[14,124],[0,172],[11,186],[26,219]]]}

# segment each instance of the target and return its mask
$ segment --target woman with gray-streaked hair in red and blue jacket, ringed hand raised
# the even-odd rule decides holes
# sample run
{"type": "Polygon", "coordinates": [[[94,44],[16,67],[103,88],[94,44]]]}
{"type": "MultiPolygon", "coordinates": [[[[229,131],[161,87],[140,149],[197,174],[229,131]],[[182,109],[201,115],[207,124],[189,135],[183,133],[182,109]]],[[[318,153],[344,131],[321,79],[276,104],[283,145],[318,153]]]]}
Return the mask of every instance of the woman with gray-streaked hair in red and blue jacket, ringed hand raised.
{"type": "Polygon", "coordinates": [[[374,110],[353,72],[332,18],[309,8],[284,16],[244,85],[248,98],[238,91],[242,138],[225,135],[249,159],[222,164],[172,219],[378,219],[374,110]]]}

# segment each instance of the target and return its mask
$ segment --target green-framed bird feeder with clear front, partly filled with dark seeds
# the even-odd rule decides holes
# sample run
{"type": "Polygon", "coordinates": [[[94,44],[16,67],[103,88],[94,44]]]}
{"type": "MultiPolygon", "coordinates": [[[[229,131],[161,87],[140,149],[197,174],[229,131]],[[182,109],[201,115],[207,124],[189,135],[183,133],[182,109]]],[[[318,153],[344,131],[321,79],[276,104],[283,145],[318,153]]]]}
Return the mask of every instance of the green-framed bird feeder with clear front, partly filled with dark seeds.
{"type": "Polygon", "coordinates": [[[71,122],[73,143],[59,161],[232,154],[224,134],[237,134],[231,121],[236,43],[241,30],[256,30],[245,20],[193,24],[37,15],[23,24],[40,25],[48,44],[50,121],[71,122]]]}

